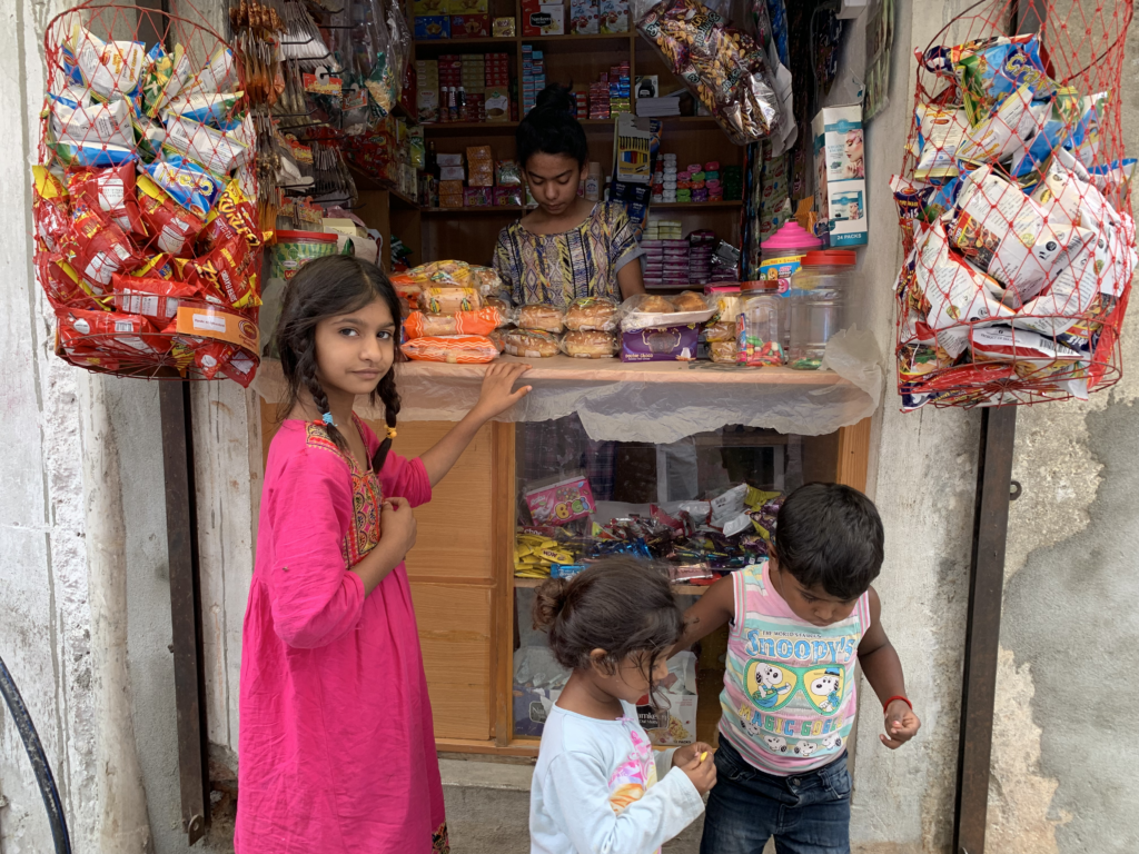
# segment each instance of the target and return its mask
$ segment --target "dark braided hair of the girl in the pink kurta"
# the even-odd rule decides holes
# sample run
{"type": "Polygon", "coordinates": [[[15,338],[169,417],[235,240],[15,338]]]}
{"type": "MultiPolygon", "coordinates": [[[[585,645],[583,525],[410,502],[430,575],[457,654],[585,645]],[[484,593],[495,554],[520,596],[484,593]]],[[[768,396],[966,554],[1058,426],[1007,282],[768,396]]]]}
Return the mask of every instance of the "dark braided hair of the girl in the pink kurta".
{"type": "MultiPolygon", "coordinates": [[[[329,255],[310,261],[285,289],[285,304],[277,321],[273,338],[280,353],[281,371],[288,386],[285,402],[278,410],[278,420],[284,420],[301,399],[301,389],[312,395],[321,416],[328,412],[328,394],[317,377],[317,323],[338,314],[350,314],[369,303],[383,299],[392,312],[392,320],[400,322],[400,299],[384,271],[375,264],[353,255],[329,255]]],[[[395,361],[402,361],[399,346],[395,361]]],[[[388,427],[395,427],[400,413],[400,394],[395,391],[394,366],[385,373],[369,402],[376,397],[384,402],[384,416],[388,427]]],[[[347,442],[337,427],[327,425],[328,437],[344,453],[347,442]]],[[[392,440],[384,438],[372,457],[375,471],[384,467],[392,440]]]]}

